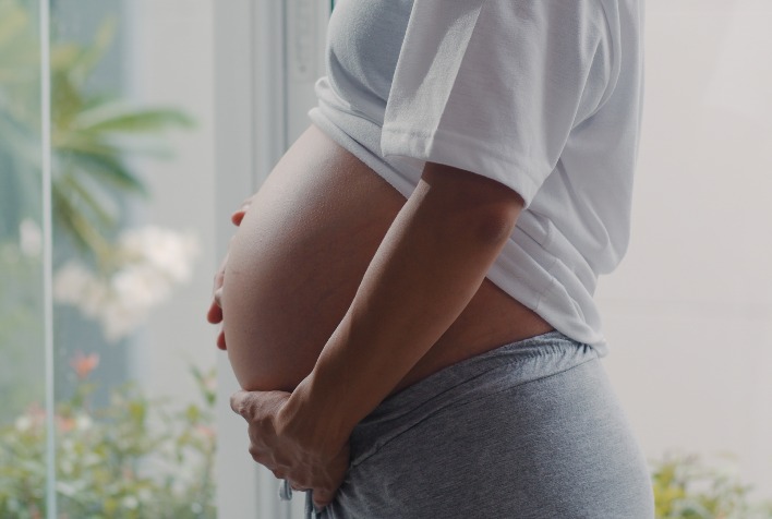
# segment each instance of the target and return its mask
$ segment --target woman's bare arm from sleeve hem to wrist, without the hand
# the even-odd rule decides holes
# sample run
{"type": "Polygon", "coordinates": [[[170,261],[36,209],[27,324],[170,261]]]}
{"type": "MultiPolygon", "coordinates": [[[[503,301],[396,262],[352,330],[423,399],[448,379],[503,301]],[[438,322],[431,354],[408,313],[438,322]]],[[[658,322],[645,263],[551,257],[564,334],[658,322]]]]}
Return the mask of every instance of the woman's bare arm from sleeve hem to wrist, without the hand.
{"type": "Polygon", "coordinates": [[[521,204],[491,180],[427,168],[292,396],[323,417],[319,439],[347,437],[447,330],[504,246],[521,204]]]}

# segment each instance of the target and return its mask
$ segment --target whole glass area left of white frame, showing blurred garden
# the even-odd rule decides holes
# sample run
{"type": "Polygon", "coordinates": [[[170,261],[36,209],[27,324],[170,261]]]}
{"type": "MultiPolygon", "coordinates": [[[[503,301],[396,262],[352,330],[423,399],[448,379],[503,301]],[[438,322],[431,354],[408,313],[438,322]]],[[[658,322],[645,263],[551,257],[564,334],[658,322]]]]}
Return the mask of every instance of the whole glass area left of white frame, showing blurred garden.
{"type": "Polygon", "coordinates": [[[37,4],[0,0],[0,517],[215,517],[210,3],[50,2],[48,386],[37,4]]]}

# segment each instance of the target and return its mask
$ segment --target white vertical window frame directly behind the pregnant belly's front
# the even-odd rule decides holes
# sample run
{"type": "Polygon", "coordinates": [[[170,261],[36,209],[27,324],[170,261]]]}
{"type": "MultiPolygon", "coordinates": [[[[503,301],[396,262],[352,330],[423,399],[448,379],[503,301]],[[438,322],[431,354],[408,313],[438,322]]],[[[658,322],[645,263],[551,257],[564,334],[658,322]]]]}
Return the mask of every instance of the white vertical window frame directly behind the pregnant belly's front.
{"type": "MultiPolygon", "coordinates": [[[[228,215],[254,193],[309,125],[313,86],[324,71],[334,0],[213,2],[215,35],[216,251],[228,246],[228,215]],[[291,57],[305,60],[301,73],[291,57]],[[295,67],[295,69],[293,69],[295,67]]],[[[229,519],[303,517],[304,499],[278,499],[273,474],[248,455],[243,420],[228,406],[239,389],[227,355],[217,362],[217,507],[229,519]]]]}

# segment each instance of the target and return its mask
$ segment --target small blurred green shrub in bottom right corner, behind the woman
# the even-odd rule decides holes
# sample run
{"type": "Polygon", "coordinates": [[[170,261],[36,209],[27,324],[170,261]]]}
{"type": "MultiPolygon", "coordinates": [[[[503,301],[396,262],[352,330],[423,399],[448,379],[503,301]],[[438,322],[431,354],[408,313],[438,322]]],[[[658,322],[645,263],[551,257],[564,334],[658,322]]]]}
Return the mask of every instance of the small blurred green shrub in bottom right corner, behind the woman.
{"type": "Polygon", "coordinates": [[[771,519],[772,503],[751,503],[749,485],[699,456],[668,456],[654,464],[656,519],[771,519]]]}

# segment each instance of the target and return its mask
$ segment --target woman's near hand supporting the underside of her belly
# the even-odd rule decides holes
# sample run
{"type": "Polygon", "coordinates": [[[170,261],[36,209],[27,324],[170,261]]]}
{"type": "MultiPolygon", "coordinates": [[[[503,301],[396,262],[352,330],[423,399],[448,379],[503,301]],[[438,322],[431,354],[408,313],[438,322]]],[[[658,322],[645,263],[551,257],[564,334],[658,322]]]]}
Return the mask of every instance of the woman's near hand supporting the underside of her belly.
{"type": "Polygon", "coordinates": [[[318,508],[333,502],[349,466],[348,439],[331,438],[284,391],[239,391],[230,407],[249,423],[250,455],[297,491],[312,490],[318,508]]]}

